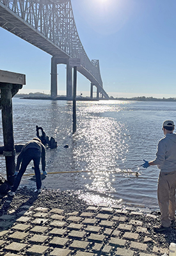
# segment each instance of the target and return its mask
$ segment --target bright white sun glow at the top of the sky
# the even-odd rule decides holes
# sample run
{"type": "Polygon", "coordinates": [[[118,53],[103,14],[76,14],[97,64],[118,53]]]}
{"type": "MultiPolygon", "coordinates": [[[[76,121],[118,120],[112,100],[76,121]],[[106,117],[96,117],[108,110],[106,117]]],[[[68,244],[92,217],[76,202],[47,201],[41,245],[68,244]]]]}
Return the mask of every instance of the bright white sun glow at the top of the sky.
{"type": "Polygon", "coordinates": [[[79,2],[81,16],[88,22],[90,28],[101,35],[113,35],[123,28],[133,10],[133,4],[129,4],[129,0],[81,0],[79,2]]]}

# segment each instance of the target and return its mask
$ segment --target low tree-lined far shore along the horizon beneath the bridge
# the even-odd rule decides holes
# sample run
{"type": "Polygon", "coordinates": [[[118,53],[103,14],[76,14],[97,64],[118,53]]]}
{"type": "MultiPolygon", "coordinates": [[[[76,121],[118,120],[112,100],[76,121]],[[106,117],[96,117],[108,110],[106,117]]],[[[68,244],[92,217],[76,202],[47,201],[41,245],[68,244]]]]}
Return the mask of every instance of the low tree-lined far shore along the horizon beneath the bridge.
{"type": "MultiPolygon", "coordinates": [[[[29,93],[29,94],[16,94],[14,96],[15,98],[20,98],[20,99],[36,99],[36,100],[72,100],[71,98],[68,99],[66,96],[63,95],[58,95],[58,97],[52,98],[50,95],[44,94],[44,93],[29,93]]],[[[81,97],[77,96],[76,100],[88,100],[88,101],[98,101],[97,98],[90,99],[90,97],[81,97]]],[[[99,99],[99,100],[107,100],[107,99],[99,99]]],[[[132,97],[132,98],[114,98],[112,96],[109,97],[109,100],[125,100],[125,101],[168,101],[168,102],[176,102],[176,98],[153,98],[153,97],[132,97]]]]}

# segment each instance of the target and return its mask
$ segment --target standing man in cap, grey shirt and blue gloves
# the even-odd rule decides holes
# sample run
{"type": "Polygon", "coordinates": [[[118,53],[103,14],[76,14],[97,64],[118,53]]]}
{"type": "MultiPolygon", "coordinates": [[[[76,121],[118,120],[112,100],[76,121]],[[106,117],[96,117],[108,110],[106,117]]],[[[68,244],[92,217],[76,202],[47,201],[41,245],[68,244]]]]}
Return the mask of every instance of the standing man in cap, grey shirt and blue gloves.
{"type": "Polygon", "coordinates": [[[161,225],[155,232],[169,231],[175,225],[175,189],[176,189],[176,134],[172,120],[163,122],[164,138],[157,145],[156,159],[145,161],[143,168],[157,165],[160,169],[157,183],[157,200],[161,212],[161,225]]]}

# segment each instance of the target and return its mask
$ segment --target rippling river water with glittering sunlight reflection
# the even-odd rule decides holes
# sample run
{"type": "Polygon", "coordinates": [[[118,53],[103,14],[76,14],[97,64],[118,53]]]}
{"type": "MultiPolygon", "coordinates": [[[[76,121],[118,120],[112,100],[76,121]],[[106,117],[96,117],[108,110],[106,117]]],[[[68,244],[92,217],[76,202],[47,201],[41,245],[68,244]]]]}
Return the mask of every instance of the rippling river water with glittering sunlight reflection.
{"type": "MultiPolygon", "coordinates": [[[[77,101],[77,132],[72,135],[71,101],[13,98],[14,140],[31,140],[38,125],[58,141],[57,148],[46,150],[49,174],[42,180],[43,188],[74,190],[91,204],[157,209],[159,170],[140,165],[143,159],[155,158],[163,121],[176,122],[175,106],[175,102],[77,101]]],[[[33,173],[32,166],[27,174],[33,173]]],[[[3,156],[0,173],[6,175],[3,156]]],[[[33,176],[22,177],[20,186],[35,188],[33,176]]]]}

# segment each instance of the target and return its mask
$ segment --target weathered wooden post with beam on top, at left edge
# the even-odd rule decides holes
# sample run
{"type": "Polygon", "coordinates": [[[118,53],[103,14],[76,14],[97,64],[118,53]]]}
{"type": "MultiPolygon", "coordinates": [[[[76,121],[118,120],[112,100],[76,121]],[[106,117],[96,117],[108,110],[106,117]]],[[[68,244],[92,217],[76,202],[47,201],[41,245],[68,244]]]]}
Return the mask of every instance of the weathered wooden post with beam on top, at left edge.
{"type": "Polygon", "coordinates": [[[2,109],[4,138],[3,156],[6,159],[6,177],[10,186],[13,185],[13,174],[15,173],[12,97],[22,88],[22,84],[26,84],[25,80],[26,77],[24,74],[0,70],[0,108],[2,109]]]}

